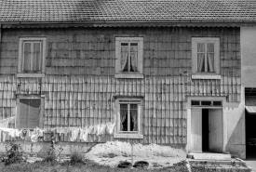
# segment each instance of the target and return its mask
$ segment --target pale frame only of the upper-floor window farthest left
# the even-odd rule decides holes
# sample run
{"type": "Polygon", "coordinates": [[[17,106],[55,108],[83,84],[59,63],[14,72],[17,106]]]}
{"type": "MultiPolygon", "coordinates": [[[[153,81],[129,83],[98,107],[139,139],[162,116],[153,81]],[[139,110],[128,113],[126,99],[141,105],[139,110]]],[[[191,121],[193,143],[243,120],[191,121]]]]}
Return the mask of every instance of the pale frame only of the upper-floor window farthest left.
{"type": "Polygon", "coordinates": [[[45,77],[46,71],[46,52],[47,50],[47,38],[46,37],[21,37],[19,42],[19,61],[18,61],[18,73],[17,77],[45,77]],[[24,73],[22,72],[23,67],[23,56],[24,56],[24,43],[40,43],[41,60],[40,60],[40,72],[36,73],[24,73]]]}

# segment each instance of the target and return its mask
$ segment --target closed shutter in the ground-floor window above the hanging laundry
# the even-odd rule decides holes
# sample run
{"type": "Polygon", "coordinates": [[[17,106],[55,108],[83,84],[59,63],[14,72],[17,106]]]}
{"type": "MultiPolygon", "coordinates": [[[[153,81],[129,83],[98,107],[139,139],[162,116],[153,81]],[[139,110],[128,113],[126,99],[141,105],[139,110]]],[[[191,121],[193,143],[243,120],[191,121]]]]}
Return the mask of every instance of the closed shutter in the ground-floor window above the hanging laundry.
{"type": "Polygon", "coordinates": [[[41,99],[20,99],[19,128],[39,127],[41,99]]]}

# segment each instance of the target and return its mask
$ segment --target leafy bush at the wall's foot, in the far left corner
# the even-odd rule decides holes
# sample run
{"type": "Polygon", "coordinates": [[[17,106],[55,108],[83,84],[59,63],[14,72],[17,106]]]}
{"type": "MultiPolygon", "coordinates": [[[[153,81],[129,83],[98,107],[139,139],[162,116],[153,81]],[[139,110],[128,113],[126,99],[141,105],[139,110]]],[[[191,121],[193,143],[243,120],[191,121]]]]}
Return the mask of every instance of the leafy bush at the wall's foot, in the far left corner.
{"type": "Polygon", "coordinates": [[[10,142],[8,144],[8,147],[10,147],[10,149],[8,149],[6,146],[7,156],[2,158],[2,162],[4,162],[5,165],[22,162],[23,161],[23,152],[22,152],[20,144],[14,144],[14,143],[10,142]]]}

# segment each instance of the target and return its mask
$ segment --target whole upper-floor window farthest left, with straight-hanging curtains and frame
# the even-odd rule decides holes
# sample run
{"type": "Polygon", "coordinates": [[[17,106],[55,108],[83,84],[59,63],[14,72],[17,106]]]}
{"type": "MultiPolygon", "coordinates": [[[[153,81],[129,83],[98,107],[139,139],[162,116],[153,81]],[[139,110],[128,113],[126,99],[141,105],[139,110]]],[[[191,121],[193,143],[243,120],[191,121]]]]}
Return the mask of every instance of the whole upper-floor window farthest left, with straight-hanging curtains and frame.
{"type": "Polygon", "coordinates": [[[43,77],[46,38],[20,38],[18,77],[43,77]]]}

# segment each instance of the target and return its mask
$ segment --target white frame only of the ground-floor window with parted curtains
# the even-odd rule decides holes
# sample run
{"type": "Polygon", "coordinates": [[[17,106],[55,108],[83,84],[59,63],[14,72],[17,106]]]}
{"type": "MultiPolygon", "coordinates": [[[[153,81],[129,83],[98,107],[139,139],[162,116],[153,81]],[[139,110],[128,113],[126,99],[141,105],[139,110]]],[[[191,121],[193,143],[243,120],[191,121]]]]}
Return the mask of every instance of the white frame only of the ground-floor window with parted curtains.
{"type": "MultiPolygon", "coordinates": [[[[132,104],[132,102],[130,103],[132,104]]],[[[115,99],[115,135],[114,138],[116,139],[143,139],[142,135],[142,99],[138,98],[120,98],[115,99]],[[120,129],[120,104],[126,104],[125,102],[120,102],[120,100],[128,100],[128,101],[140,101],[139,103],[136,102],[134,104],[138,104],[138,131],[121,131],[120,129]]]]}

